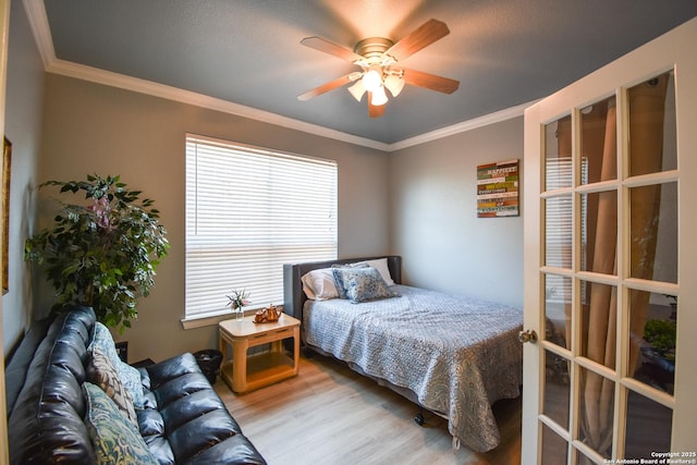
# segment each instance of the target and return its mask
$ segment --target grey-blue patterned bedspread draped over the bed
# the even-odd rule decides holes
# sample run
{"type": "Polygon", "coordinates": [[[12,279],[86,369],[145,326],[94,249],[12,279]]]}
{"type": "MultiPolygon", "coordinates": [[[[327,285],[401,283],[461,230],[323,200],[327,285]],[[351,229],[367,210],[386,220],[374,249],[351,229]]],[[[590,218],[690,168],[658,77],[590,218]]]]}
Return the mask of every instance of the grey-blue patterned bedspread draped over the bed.
{"type": "Polygon", "coordinates": [[[352,304],[307,301],[303,339],[366,375],[411,390],[479,452],[499,444],[491,404],[519,395],[523,310],[395,285],[401,294],[352,304]]]}

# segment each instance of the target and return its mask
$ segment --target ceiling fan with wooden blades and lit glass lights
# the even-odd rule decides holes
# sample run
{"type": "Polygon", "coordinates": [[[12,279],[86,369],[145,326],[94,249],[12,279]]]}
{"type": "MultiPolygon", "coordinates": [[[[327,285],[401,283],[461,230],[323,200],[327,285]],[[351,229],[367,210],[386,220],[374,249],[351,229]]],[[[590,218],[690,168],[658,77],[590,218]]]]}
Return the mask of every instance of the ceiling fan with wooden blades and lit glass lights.
{"type": "Polygon", "coordinates": [[[298,100],[309,100],[329,90],[345,86],[358,101],[364,94],[368,94],[368,114],[370,118],[379,118],[384,114],[384,106],[388,102],[386,88],[393,97],[396,97],[405,84],[437,90],[443,94],[452,94],[460,87],[460,82],[421,71],[408,70],[400,64],[401,61],[433,44],[450,34],[450,29],[442,21],[429,20],[421,24],[398,42],[384,37],[369,37],[356,44],[354,50],[333,44],[321,37],[306,37],[301,40],[306,47],[325,53],[333,54],[347,60],[362,71],[341,76],[334,81],[315,87],[297,96],[298,100]]]}

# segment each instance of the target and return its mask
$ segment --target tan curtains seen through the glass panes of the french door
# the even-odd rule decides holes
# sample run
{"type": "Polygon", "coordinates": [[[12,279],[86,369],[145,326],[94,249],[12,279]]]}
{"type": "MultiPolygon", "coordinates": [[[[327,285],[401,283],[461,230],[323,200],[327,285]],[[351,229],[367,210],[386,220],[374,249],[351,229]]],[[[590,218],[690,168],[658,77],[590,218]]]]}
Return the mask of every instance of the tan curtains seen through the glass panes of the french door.
{"type": "MultiPolygon", "coordinates": [[[[629,108],[631,173],[661,171],[663,147],[663,119],[668,75],[641,84],[632,89],[629,108]]],[[[600,161],[600,180],[616,179],[616,108],[608,106],[604,144],[600,161]]],[[[594,157],[598,160],[598,157],[594,157]]],[[[592,163],[592,161],[591,161],[592,163]]],[[[590,270],[606,274],[616,274],[616,193],[603,192],[598,195],[597,206],[589,206],[588,224],[596,225],[590,232],[592,256],[588,257],[590,270]],[[595,217],[595,218],[592,218],[595,217]]],[[[660,185],[633,189],[631,193],[631,276],[651,279],[656,256],[660,185]]],[[[591,284],[588,289],[585,317],[587,331],[582,344],[588,358],[615,368],[616,347],[616,289],[602,284],[591,284]]],[[[648,311],[648,293],[633,293],[629,303],[632,313],[631,330],[644,334],[648,311]]],[[[632,338],[629,351],[629,374],[634,372],[638,360],[638,341],[632,338]]],[[[612,417],[614,405],[614,383],[589,370],[584,370],[582,381],[580,433],[584,441],[602,455],[610,454],[612,448],[612,417]]]]}

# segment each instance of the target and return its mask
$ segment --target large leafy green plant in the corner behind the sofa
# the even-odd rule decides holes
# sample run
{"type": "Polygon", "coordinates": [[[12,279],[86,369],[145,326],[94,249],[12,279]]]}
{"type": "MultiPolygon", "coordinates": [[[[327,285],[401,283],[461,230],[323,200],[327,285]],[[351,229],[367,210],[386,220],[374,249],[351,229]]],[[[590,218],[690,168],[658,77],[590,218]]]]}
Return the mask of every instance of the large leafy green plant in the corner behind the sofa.
{"type": "Polygon", "coordinates": [[[61,194],[85,193],[83,205],[58,200],[54,224],[27,238],[25,258],[41,266],[56,289],[52,311],[75,304],[93,307],[99,321],[120,332],[137,318],[136,301],[155,285],[167,231],[154,201],[139,200],[119,176],[48,181],[61,194]]]}

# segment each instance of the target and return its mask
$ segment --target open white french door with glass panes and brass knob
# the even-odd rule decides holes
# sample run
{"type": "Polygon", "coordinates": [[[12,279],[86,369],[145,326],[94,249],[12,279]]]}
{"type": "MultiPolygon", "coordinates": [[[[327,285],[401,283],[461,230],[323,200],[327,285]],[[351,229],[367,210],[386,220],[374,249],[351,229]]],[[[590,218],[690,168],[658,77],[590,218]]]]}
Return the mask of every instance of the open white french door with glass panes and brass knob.
{"type": "Polygon", "coordinates": [[[697,19],[525,112],[525,465],[697,461],[695,44],[697,19]]]}

